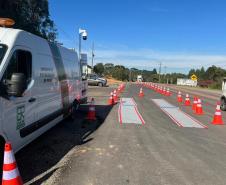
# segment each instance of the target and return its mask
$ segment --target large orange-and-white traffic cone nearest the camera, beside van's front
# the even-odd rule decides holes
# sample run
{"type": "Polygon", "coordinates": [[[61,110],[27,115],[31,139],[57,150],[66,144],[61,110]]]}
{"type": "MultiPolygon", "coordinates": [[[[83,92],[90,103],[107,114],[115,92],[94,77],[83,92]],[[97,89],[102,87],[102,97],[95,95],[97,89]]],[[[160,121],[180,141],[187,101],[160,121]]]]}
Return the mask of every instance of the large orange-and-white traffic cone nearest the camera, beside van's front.
{"type": "Polygon", "coordinates": [[[22,185],[11,143],[5,143],[2,185],[22,185]]]}

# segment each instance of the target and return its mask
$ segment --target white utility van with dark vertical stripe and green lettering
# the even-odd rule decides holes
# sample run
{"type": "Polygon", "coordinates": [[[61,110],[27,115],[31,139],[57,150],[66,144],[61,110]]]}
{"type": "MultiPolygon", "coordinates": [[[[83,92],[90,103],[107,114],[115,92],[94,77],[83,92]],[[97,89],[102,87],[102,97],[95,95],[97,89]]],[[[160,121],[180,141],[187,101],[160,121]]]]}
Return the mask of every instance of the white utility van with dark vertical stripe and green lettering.
{"type": "Polygon", "coordinates": [[[0,28],[1,143],[10,141],[18,151],[69,116],[81,91],[75,51],[22,30],[0,28]]]}

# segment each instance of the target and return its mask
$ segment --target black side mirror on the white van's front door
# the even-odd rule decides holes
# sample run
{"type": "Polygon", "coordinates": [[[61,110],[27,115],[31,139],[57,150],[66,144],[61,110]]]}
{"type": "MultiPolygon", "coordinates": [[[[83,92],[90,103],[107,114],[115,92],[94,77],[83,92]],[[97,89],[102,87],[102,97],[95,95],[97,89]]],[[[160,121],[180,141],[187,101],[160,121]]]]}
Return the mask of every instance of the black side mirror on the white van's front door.
{"type": "Polygon", "coordinates": [[[27,86],[26,77],[23,73],[13,73],[11,80],[7,80],[6,85],[9,96],[22,97],[27,86]]]}

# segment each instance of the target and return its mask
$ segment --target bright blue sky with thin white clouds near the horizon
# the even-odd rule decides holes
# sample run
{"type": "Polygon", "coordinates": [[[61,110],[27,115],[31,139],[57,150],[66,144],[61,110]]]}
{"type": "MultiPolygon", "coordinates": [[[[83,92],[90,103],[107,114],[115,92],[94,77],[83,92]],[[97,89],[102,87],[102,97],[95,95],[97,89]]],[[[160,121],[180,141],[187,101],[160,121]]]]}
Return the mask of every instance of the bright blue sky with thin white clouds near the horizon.
{"type": "Polygon", "coordinates": [[[187,73],[226,68],[226,0],[49,0],[65,47],[78,48],[78,29],[91,63],[187,73]]]}

